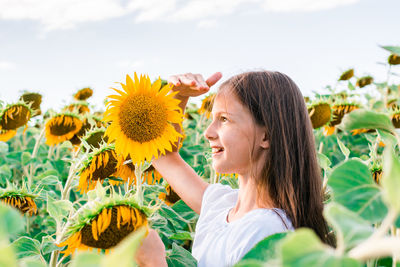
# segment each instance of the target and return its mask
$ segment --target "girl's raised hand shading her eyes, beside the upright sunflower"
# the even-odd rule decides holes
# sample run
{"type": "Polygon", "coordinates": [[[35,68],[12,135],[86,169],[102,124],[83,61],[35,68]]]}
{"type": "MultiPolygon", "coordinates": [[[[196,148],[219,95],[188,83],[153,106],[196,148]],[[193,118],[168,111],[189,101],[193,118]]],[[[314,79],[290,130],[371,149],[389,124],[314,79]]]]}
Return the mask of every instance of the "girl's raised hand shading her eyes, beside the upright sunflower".
{"type": "Polygon", "coordinates": [[[199,96],[207,93],[221,77],[221,72],[214,73],[207,80],[204,80],[201,74],[186,73],[171,76],[168,83],[174,86],[172,91],[179,91],[179,96],[199,96]]]}

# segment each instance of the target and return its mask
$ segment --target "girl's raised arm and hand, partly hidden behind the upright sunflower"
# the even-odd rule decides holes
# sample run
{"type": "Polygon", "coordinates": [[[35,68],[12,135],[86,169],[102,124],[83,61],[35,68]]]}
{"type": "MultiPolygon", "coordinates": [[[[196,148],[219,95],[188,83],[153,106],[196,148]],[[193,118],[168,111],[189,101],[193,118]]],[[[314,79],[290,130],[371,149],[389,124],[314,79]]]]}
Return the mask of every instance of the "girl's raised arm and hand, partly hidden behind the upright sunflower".
{"type": "MultiPolygon", "coordinates": [[[[175,97],[181,100],[180,107],[184,111],[189,97],[208,92],[210,87],[218,82],[221,77],[222,74],[217,72],[204,80],[199,74],[187,73],[171,76],[168,82],[174,86],[172,90],[178,91],[175,97]]],[[[182,131],[178,125],[175,125],[175,127],[182,131]]],[[[152,164],[181,199],[196,213],[200,214],[201,201],[208,183],[197,175],[177,151],[167,152],[166,155],[153,160],[152,164]]]]}

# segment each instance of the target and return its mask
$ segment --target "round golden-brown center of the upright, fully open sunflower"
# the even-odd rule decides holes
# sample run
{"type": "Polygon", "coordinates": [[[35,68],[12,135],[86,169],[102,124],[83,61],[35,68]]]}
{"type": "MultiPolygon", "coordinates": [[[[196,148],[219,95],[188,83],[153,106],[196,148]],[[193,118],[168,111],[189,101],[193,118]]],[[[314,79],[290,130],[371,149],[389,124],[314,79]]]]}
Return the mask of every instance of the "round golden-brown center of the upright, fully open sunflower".
{"type": "Polygon", "coordinates": [[[122,132],[133,141],[144,143],[162,135],[167,126],[167,109],[150,95],[129,96],[121,105],[122,132]]]}

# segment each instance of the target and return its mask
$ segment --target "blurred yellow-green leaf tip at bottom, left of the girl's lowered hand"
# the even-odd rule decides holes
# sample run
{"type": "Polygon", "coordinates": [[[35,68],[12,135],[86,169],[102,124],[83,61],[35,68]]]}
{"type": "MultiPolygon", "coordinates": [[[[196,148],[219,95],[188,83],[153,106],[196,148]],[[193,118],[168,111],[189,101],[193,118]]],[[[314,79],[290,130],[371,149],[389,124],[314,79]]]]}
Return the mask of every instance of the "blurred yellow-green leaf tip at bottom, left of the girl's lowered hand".
{"type": "Polygon", "coordinates": [[[139,228],[124,240],[122,240],[113,250],[101,261],[101,266],[118,266],[118,267],[132,267],[136,266],[133,261],[133,255],[144,238],[146,230],[144,227],[139,228]]]}

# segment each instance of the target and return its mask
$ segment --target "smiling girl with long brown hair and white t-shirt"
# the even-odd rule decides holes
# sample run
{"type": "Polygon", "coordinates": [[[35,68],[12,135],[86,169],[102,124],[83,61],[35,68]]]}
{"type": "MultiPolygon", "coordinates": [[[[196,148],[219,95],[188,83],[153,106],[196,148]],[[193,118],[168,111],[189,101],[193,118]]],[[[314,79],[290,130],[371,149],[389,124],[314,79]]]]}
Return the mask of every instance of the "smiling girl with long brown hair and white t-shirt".
{"type": "MultiPolygon", "coordinates": [[[[220,78],[172,76],[185,110],[191,96],[204,94],[220,78]]],[[[239,189],[209,185],[178,152],[153,162],[185,203],[200,214],[192,253],[198,266],[232,266],[267,236],[312,228],[325,243],[320,169],[303,96],[279,72],[236,75],[219,88],[212,122],[204,133],[218,173],[237,173],[239,189]]],[[[140,266],[167,266],[165,249],[151,230],[136,254],[140,266]]]]}

